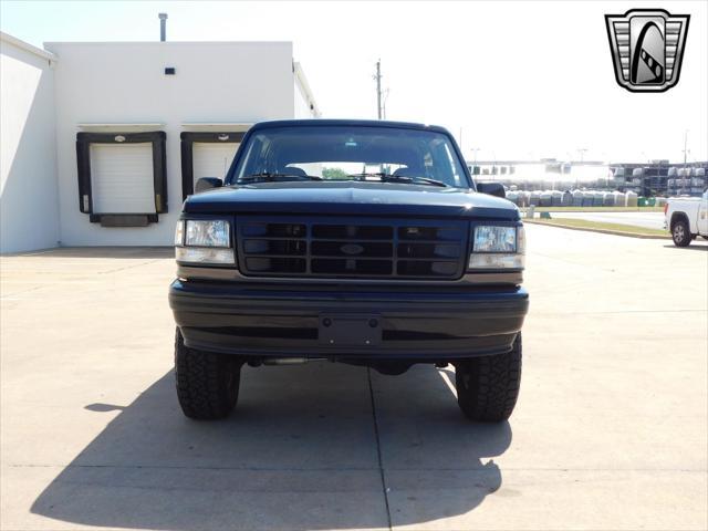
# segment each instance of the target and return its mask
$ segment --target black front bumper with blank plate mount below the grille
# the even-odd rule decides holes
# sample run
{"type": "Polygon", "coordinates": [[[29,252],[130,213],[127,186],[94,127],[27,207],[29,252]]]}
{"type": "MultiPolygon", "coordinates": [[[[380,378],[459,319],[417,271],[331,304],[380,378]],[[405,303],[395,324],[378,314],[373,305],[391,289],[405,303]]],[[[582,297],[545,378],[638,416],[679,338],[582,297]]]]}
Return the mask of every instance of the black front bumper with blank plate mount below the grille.
{"type": "MultiPolygon", "coordinates": [[[[192,348],[256,357],[442,362],[509,352],[529,295],[518,287],[356,291],[176,280],[169,304],[192,348]],[[368,333],[362,323],[371,323],[381,331],[371,344],[352,344],[356,337],[332,344],[331,329],[323,329],[330,317],[340,323],[355,317],[352,323],[364,326],[357,330],[368,333]]],[[[337,326],[346,335],[346,325],[337,326]]]]}

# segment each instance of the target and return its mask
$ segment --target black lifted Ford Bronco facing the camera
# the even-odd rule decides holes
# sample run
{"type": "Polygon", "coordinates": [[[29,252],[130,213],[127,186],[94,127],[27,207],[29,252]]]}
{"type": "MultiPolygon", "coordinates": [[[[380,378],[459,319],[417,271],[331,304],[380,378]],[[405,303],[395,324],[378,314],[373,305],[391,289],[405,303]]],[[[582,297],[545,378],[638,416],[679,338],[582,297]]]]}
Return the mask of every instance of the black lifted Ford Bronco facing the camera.
{"type": "Polygon", "coordinates": [[[452,364],[461,410],[507,419],[529,295],[523,226],[502,197],[472,180],[441,127],[253,126],[177,225],[169,303],[185,415],[229,415],[243,364],[325,360],[393,375],[452,364]]]}

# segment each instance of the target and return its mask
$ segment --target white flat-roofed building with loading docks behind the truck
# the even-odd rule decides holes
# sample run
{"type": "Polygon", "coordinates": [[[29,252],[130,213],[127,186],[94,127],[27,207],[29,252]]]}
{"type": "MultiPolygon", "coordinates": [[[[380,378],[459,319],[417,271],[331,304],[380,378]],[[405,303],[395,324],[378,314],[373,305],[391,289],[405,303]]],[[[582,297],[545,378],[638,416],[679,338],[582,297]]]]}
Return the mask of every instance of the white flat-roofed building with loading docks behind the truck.
{"type": "Polygon", "coordinates": [[[0,38],[0,252],[170,244],[251,124],[320,115],[290,42],[0,38]]]}

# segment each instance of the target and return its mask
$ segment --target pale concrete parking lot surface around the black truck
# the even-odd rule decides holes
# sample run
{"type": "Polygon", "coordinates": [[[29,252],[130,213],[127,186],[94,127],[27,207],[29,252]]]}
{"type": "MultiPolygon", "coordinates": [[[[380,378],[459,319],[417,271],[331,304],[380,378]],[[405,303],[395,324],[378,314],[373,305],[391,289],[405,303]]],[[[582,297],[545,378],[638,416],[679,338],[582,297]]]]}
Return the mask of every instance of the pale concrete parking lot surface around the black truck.
{"type": "Polygon", "coordinates": [[[174,393],[168,250],[1,266],[3,530],[706,529],[708,247],[527,228],[520,402],[454,369],[246,368],[225,421],[174,393]]]}

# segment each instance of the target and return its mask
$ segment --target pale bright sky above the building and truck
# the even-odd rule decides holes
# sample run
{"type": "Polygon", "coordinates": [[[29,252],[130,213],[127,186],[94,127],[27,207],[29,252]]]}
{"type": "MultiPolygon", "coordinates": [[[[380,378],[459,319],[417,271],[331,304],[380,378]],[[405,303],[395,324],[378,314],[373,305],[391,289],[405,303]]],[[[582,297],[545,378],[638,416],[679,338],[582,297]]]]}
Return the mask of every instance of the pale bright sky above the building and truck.
{"type": "MultiPolygon", "coordinates": [[[[0,29],[51,41],[292,41],[323,117],[442,125],[472,160],[708,159],[708,1],[0,1],[0,29]],[[690,14],[679,83],[614,79],[604,14],[690,14]]],[[[228,65],[225,65],[228,67],[228,65]]]]}

